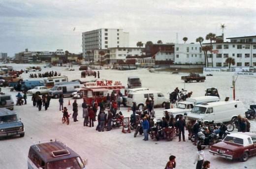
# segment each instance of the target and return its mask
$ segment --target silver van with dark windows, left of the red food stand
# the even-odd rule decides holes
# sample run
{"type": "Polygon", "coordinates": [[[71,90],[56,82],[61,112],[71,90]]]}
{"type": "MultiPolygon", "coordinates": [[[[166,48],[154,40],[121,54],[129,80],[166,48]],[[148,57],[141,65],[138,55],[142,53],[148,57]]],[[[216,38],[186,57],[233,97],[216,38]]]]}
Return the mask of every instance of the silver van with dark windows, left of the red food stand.
{"type": "Polygon", "coordinates": [[[59,98],[60,95],[72,97],[72,93],[82,87],[84,87],[84,85],[79,82],[59,83],[51,88],[48,94],[55,99],[59,98]]]}

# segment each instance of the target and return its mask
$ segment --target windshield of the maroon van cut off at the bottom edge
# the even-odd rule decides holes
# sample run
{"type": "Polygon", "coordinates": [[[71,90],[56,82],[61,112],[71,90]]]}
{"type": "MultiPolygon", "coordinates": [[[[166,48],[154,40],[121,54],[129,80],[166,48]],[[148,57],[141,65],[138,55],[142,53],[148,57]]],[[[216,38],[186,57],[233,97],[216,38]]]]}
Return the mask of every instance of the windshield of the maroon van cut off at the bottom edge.
{"type": "Polygon", "coordinates": [[[73,157],[47,163],[46,167],[47,169],[82,169],[84,168],[84,164],[80,157],[73,157]]]}

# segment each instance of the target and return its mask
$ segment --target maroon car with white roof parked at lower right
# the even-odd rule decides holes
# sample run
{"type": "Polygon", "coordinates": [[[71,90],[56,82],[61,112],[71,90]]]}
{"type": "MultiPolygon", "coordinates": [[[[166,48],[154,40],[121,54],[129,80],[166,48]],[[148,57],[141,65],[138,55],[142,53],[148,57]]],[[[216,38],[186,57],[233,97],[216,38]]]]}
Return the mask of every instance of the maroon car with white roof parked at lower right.
{"type": "Polygon", "coordinates": [[[256,133],[232,133],[223,141],[213,144],[209,152],[225,159],[247,161],[256,155],[256,133]]]}

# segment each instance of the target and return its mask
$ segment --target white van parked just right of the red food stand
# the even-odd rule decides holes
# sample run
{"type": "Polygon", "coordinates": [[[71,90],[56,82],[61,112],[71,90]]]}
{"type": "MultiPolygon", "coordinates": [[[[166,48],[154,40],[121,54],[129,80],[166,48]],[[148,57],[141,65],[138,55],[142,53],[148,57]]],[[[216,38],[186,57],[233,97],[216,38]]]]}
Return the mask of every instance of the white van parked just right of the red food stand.
{"type": "Polygon", "coordinates": [[[135,102],[138,108],[146,106],[147,98],[154,98],[154,106],[161,105],[165,107],[165,103],[169,101],[160,91],[143,90],[129,93],[127,97],[127,106],[132,107],[135,102]]]}

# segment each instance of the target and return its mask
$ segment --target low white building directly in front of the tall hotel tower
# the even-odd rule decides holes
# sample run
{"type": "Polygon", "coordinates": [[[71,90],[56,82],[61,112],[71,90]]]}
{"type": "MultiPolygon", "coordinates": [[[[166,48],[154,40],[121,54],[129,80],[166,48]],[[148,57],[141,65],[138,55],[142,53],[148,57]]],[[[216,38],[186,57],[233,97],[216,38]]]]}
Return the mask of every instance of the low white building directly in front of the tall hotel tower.
{"type": "Polygon", "coordinates": [[[110,62],[126,60],[127,56],[142,56],[145,48],[108,48],[110,51],[110,62]]]}

